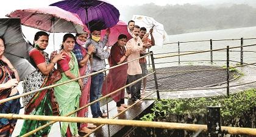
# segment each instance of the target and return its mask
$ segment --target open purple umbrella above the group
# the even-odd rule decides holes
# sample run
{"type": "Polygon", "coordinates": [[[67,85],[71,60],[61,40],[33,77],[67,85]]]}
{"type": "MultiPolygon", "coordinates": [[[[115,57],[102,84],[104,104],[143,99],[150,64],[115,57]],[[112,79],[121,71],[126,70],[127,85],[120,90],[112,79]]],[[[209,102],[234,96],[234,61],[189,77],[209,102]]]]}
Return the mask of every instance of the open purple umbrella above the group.
{"type": "Polygon", "coordinates": [[[63,10],[77,13],[89,29],[107,29],[118,23],[120,13],[116,7],[97,0],[66,0],[54,4],[63,10]]]}

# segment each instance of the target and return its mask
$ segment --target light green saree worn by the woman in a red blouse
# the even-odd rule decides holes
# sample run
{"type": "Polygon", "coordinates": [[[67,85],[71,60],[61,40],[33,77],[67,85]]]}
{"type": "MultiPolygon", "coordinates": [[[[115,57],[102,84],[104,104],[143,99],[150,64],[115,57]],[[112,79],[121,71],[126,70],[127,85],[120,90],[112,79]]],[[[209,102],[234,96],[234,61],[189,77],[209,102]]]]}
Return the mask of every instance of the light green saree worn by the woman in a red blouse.
{"type": "MultiPolygon", "coordinates": [[[[76,60],[76,56],[71,52],[71,60],[69,61],[69,70],[71,71],[74,76],[78,77],[79,74],[79,67],[76,60]]],[[[62,83],[66,82],[67,80],[70,80],[69,77],[67,77],[64,72],[62,72],[62,79],[60,79],[56,83],[62,83]]],[[[80,86],[77,81],[69,82],[64,85],[56,86],[54,88],[54,94],[56,97],[56,100],[59,104],[59,111],[60,116],[65,116],[66,114],[70,113],[71,111],[74,111],[76,108],[79,108],[79,98],[80,98],[80,86]]],[[[76,113],[71,115],[72,117],[76,117],[76,113]]],[[[66,131],[69,129],[72,133],[72,135],[77,135],[77,123],[74,122],[61,122],[61,134],[62,136],[65,136],[66,131]]]]}

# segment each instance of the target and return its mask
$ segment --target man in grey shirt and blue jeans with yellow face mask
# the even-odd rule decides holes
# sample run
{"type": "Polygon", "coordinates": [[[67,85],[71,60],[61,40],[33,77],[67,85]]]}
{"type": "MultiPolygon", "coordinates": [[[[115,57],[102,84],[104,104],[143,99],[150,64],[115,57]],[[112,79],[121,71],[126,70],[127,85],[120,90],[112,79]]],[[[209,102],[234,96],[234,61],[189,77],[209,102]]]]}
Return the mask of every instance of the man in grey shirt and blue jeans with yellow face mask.
{"type": "MultiPolygon", "coordinates": [[[[90,38],[88,38],[85,46],[88,47],[90,46],[90,44],[93,44],[95,47],[95,50],[93,52],[93,64],[91,65],[91,71],[97,72],[105,68],[105,58],[108,58],[110,55],[110,49],[108,47],[106,50],[103,49],[107,44],[110,29],[106,30],[105,37],[102,41],[101,30],[98,27],[91,27],[90,32],[90,38]]],[[[103,80],[103,72],[91,76],[90,102],[99,99],[99,97],[101,96],[103,80]]],[[[93,118],[103,118],[107,116],[107,113],[101,112],[99,106],[99,102],[91,105],[91,114],[93,115],[93,118]]]]}

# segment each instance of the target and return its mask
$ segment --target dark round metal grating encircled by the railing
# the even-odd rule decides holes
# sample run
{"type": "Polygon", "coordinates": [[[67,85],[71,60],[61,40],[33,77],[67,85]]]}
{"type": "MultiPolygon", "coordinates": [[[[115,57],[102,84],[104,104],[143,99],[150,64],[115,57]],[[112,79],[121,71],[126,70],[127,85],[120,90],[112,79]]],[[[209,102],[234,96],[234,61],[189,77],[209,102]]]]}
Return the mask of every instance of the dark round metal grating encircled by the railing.
{"type": "MultiPolygon", "coordinates": [[[[168,68],[158,68],[157,72],[169,71],[190,71],[197,69],[218,69],[217,66],[172,66],[168,68]]],[[[230,79],[233,74],[230,72],[230,79]]],[[[205,86],[220,85],[226,82],[226,69],[213,71],[196,71],[196,72],[174,72],[157,74],[157,82],[159,90],[187,89],[199,88],[205,86]]],[[[147,89],[155,90],[154,76],[147,79],[147,89]]]]}

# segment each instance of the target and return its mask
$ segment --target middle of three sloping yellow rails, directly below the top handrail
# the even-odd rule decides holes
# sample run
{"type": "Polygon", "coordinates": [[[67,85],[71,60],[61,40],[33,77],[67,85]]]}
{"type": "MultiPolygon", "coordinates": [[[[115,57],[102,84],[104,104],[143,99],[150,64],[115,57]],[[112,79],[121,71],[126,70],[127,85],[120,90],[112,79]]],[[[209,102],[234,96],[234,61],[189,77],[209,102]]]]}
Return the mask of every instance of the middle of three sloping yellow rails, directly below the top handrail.
{"type": "MultiPolygon", "coordinates": [[[[84,107],[80,107],[80,108],[78,108],[77,110],[71,111],[70,113],[66,114],[65,116],[70,116],[71,114],[74,114],[74,113],[76,113],[77,111],[82,110],[82,109],[84,109],[84,108],[90,106],[91,104],[94,104],[94,103],[98,102],[99,100],[105,99],[106,97],[111,96],[112,94],[118,93],[118,91],[123,90],[123,89],[126,88],[127,86],[133,85],[134,83],[137,83],[138,81],[140,81],[140,80],[144,79],[145,77],[148,77],[149,75],[154,74],[154,73],[155,73],[155,71],[152,72],[152,73],[150,73],[150,74],[148,74],[148,75],[146,75],[146,76],[144,76],[144,77],[141,77],[141,78],[138,79],[138,80],[135,80],[135,81],[132,82],[132,83],[129,83],[129,84],[126,85],[126,86],[123,86],[122,88],[119,88],[118,90],[113,91],[112,93],[107,94],[106,96],[103,96],[103,97],[101,97],[101,98],[99,98],[99,99],[94,100],[93,102],[90,102],[89,104],[85,105],[84,107]]],[[[36,128],[36,129],[34,129],[34,130],[32,130],[32,131],[30,131],[30,132],[24,134],[24,135],[21,136],[21,137],[30,136],[30,135],[34,134],[35,132],[38,132],[39,130],[41,130],[41,129],[43,129],[43,128],[46,128],[46,127],[48,127],[49,125],[52,125],[52,124],[54,124],[54,123],[55,123],[55,121],[51,121],[51,122],[49,122],[48,124],[42,125],[41,127],[38,127],[38,128],[36,128]]]]}

